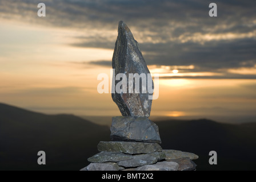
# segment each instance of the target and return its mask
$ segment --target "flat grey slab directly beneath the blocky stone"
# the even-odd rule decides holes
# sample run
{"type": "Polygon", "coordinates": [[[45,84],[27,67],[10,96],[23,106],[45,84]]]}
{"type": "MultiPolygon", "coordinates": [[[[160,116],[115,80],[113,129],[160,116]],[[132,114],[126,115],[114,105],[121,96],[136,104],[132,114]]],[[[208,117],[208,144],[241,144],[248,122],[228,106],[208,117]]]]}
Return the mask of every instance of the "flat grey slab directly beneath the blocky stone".
{"type": "Polygon", "coordinates": [[[125,154],[147,154],[161,152],[162,147],[157,143],[143,142],[99,142],[98,151],[122,152],[125,154]]]}

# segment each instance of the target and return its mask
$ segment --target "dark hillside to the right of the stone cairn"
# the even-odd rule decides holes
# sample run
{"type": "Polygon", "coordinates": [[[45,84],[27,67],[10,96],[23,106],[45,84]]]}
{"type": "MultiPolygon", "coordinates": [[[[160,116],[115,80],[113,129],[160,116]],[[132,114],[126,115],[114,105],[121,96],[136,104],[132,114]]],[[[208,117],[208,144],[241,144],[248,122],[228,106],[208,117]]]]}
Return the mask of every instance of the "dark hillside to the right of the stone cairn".
{"type": "Polygon", "coordinates": [[[162,147],[193,152],[198,170],[255,170],[256,123],[230,125],[208,119],[157,122],[162,147]],[[218,164],[209,164],[216,151],[218,164]]]}

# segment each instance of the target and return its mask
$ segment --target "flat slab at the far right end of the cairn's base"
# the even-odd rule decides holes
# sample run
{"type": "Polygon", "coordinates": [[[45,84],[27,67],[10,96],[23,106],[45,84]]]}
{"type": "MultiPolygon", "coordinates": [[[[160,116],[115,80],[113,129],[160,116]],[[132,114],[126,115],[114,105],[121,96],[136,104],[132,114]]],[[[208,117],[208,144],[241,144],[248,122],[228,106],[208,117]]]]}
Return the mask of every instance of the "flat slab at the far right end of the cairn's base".
{"type": "Polygon", "coordinates": [[[198,159],[198,155],[190,152],[182,152],[179,150],[163,150],[166,155],[166,160],[179,159],[179,158],[190,158],[191,160],[198,159]]]}

